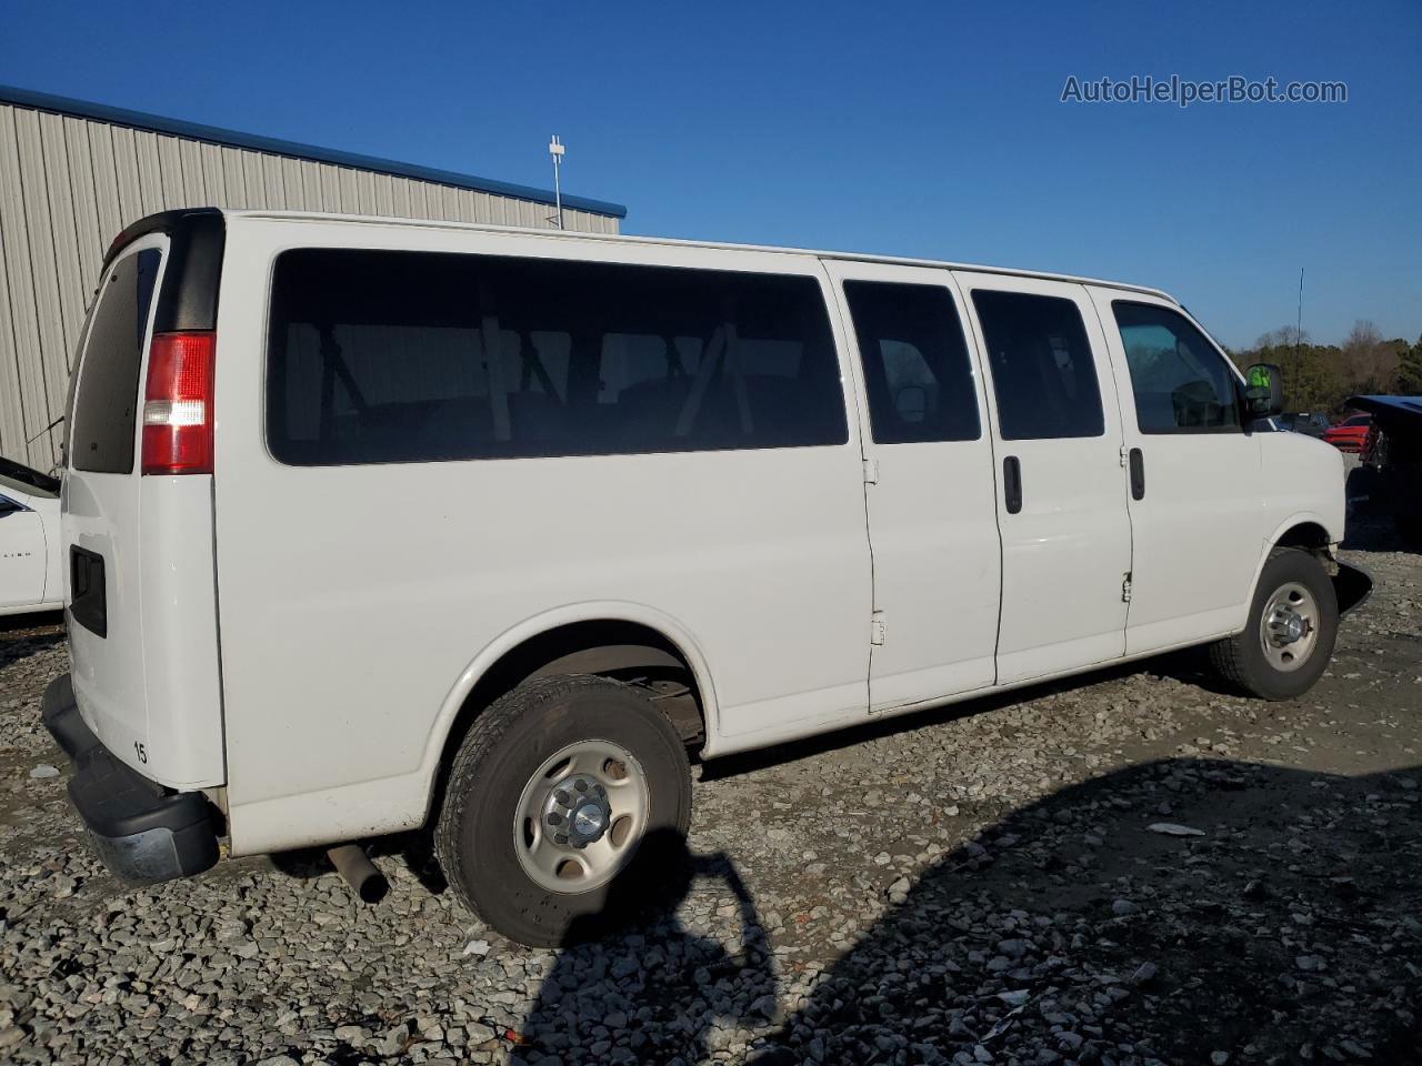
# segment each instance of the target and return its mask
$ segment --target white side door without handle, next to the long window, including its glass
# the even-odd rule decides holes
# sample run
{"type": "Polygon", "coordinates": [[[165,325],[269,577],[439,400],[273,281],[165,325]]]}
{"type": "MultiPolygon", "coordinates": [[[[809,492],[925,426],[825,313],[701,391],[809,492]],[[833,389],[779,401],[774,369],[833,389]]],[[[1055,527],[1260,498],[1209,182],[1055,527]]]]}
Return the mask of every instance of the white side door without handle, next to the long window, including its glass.
{"type": "Polygon", "coordinates": [[[993,684],[993,442],[947,270],[826,263],[856,338],[875,560],[870,709],[993,684]]]}

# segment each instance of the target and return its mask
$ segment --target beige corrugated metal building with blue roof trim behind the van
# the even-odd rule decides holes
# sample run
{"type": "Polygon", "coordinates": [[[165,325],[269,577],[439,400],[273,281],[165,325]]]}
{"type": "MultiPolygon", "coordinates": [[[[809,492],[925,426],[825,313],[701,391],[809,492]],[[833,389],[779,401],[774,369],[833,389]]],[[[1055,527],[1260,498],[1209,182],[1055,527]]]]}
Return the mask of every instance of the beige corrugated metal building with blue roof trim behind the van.
{"type": "MultiPolygon", "coordinates": [[[[60,459],[70,368],[108,243],[169,208],[555,226],[553,193],[0,85],[0,455],[60,459]]],[[[563,196],[563,225],[627,209],[563,196]]]]}

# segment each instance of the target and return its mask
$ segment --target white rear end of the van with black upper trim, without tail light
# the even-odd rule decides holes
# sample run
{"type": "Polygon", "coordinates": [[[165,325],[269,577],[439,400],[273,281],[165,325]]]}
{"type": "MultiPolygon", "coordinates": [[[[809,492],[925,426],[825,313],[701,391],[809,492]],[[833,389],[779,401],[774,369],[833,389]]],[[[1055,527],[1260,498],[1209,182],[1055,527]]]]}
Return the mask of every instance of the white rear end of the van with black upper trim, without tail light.
{"type": "Polygon", "coordinates": [[[67,419],[61,550],[74,694],[90,729],[135,770],[173,789],[216,786],[212,476],[145,475],[141,441],[154,337],[212,327],[222,217],[154,216],[115,247],[67,419]]]}

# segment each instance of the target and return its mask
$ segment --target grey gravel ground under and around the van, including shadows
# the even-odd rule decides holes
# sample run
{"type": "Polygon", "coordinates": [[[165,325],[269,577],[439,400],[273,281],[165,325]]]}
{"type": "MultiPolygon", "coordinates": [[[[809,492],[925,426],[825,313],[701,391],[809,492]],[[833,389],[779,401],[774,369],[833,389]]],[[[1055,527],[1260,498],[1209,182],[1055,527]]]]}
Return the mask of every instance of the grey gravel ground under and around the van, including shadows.
{"type": "Polygon", "coordinates": [[[1175,657],[698,770],[674,912],[562,952],[418,840],[384,901],[310,856],[124,890],[0,632],[0,1059],[1422,1063],[1422,556],[1304,699],[1175,657]],[[58,772],[54,770],[58,768],[58,772]]]}

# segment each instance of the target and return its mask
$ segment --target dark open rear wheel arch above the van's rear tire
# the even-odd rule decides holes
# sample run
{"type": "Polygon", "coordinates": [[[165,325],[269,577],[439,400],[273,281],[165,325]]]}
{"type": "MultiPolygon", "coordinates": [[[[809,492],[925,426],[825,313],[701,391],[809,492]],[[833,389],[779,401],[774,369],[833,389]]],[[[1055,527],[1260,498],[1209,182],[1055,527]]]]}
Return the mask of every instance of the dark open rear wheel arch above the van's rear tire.
{"type": "Polygon", "coordinates": [[[445,735],[427,817],[444,802],[449,768],[469,728],[501,696],[539,678],[592,674],[643,688],[688,750],[707,736],[707,695],[690,657],[658,630],[623,620],[576,621],[545,630],[505,651],[464,698],[445,735]]]}

